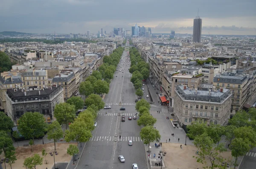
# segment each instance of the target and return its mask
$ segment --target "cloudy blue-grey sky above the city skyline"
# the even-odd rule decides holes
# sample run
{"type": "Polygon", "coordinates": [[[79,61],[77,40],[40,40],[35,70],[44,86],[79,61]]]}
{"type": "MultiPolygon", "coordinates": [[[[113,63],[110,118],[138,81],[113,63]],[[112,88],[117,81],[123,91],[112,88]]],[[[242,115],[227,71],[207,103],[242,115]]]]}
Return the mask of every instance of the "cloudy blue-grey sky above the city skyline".
{"type": "Polygon", "coordinates": [[[256,0],[0,0],[0,32],[97,33],[151,27],[152,33],[256,35],[256,0]]]}

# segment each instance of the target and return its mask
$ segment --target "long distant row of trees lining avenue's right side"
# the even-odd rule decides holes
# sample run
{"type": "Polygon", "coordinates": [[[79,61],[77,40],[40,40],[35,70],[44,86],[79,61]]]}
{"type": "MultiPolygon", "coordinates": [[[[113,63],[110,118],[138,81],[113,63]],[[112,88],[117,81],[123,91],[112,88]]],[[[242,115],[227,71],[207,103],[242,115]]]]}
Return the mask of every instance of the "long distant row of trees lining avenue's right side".
{"type": "Polygon", "coordinates": [[[136,89],[135,94],[142,97],[142,80],[146,80],[149,77],[149,65],[143,61],[136,48],[130,48],[129,54],[131,58],[131,68],[129,69],[129,72],[132,74],[131,82],[136,89]]]}

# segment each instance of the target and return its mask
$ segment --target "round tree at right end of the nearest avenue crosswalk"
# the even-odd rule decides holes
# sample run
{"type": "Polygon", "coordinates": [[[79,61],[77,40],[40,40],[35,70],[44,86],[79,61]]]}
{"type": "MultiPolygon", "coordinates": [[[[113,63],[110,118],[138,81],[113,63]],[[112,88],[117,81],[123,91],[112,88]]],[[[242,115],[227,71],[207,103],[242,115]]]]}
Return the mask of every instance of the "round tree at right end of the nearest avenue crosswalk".
{"type": "Polygon", "coordinates": [[[140,137],[143,140],[144,144],[148,144],[148,151],[149,151],[149,143],[154,142],[158,138],[161,137],[159,131],[154,129],[153,126],[145,126],[140,131],[140,137]]]}

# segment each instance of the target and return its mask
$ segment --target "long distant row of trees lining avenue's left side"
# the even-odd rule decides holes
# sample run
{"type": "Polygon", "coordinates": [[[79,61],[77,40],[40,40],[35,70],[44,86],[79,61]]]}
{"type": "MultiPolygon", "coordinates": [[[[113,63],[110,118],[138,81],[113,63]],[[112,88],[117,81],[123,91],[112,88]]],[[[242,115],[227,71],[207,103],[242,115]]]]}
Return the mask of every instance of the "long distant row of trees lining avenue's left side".
{"type": "Polygon", "coordinates": [[[122,56],[123,48],[119,47],[109,56],[103,58],[103,64],[99,66],[99,71],[93,73],[80,83],[79,93],[85,97],[90,94],[105,94],[109,91],[110,80],[113,78],[116,66],[122,56]]]}

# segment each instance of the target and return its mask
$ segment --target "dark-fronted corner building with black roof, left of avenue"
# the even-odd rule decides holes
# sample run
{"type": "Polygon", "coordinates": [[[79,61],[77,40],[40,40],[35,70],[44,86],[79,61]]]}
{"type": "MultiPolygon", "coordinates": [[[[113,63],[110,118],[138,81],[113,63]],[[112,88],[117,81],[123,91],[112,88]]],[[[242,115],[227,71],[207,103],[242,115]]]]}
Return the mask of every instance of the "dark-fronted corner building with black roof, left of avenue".
{"type": "Polygon", "coordinates": [[[51,123],[56,104],[64,102],[61,86],[48,86],[44,89],[14,88],[6,91],[6,113],[15,125],[25,112],[39,112],[51,123]]]}

